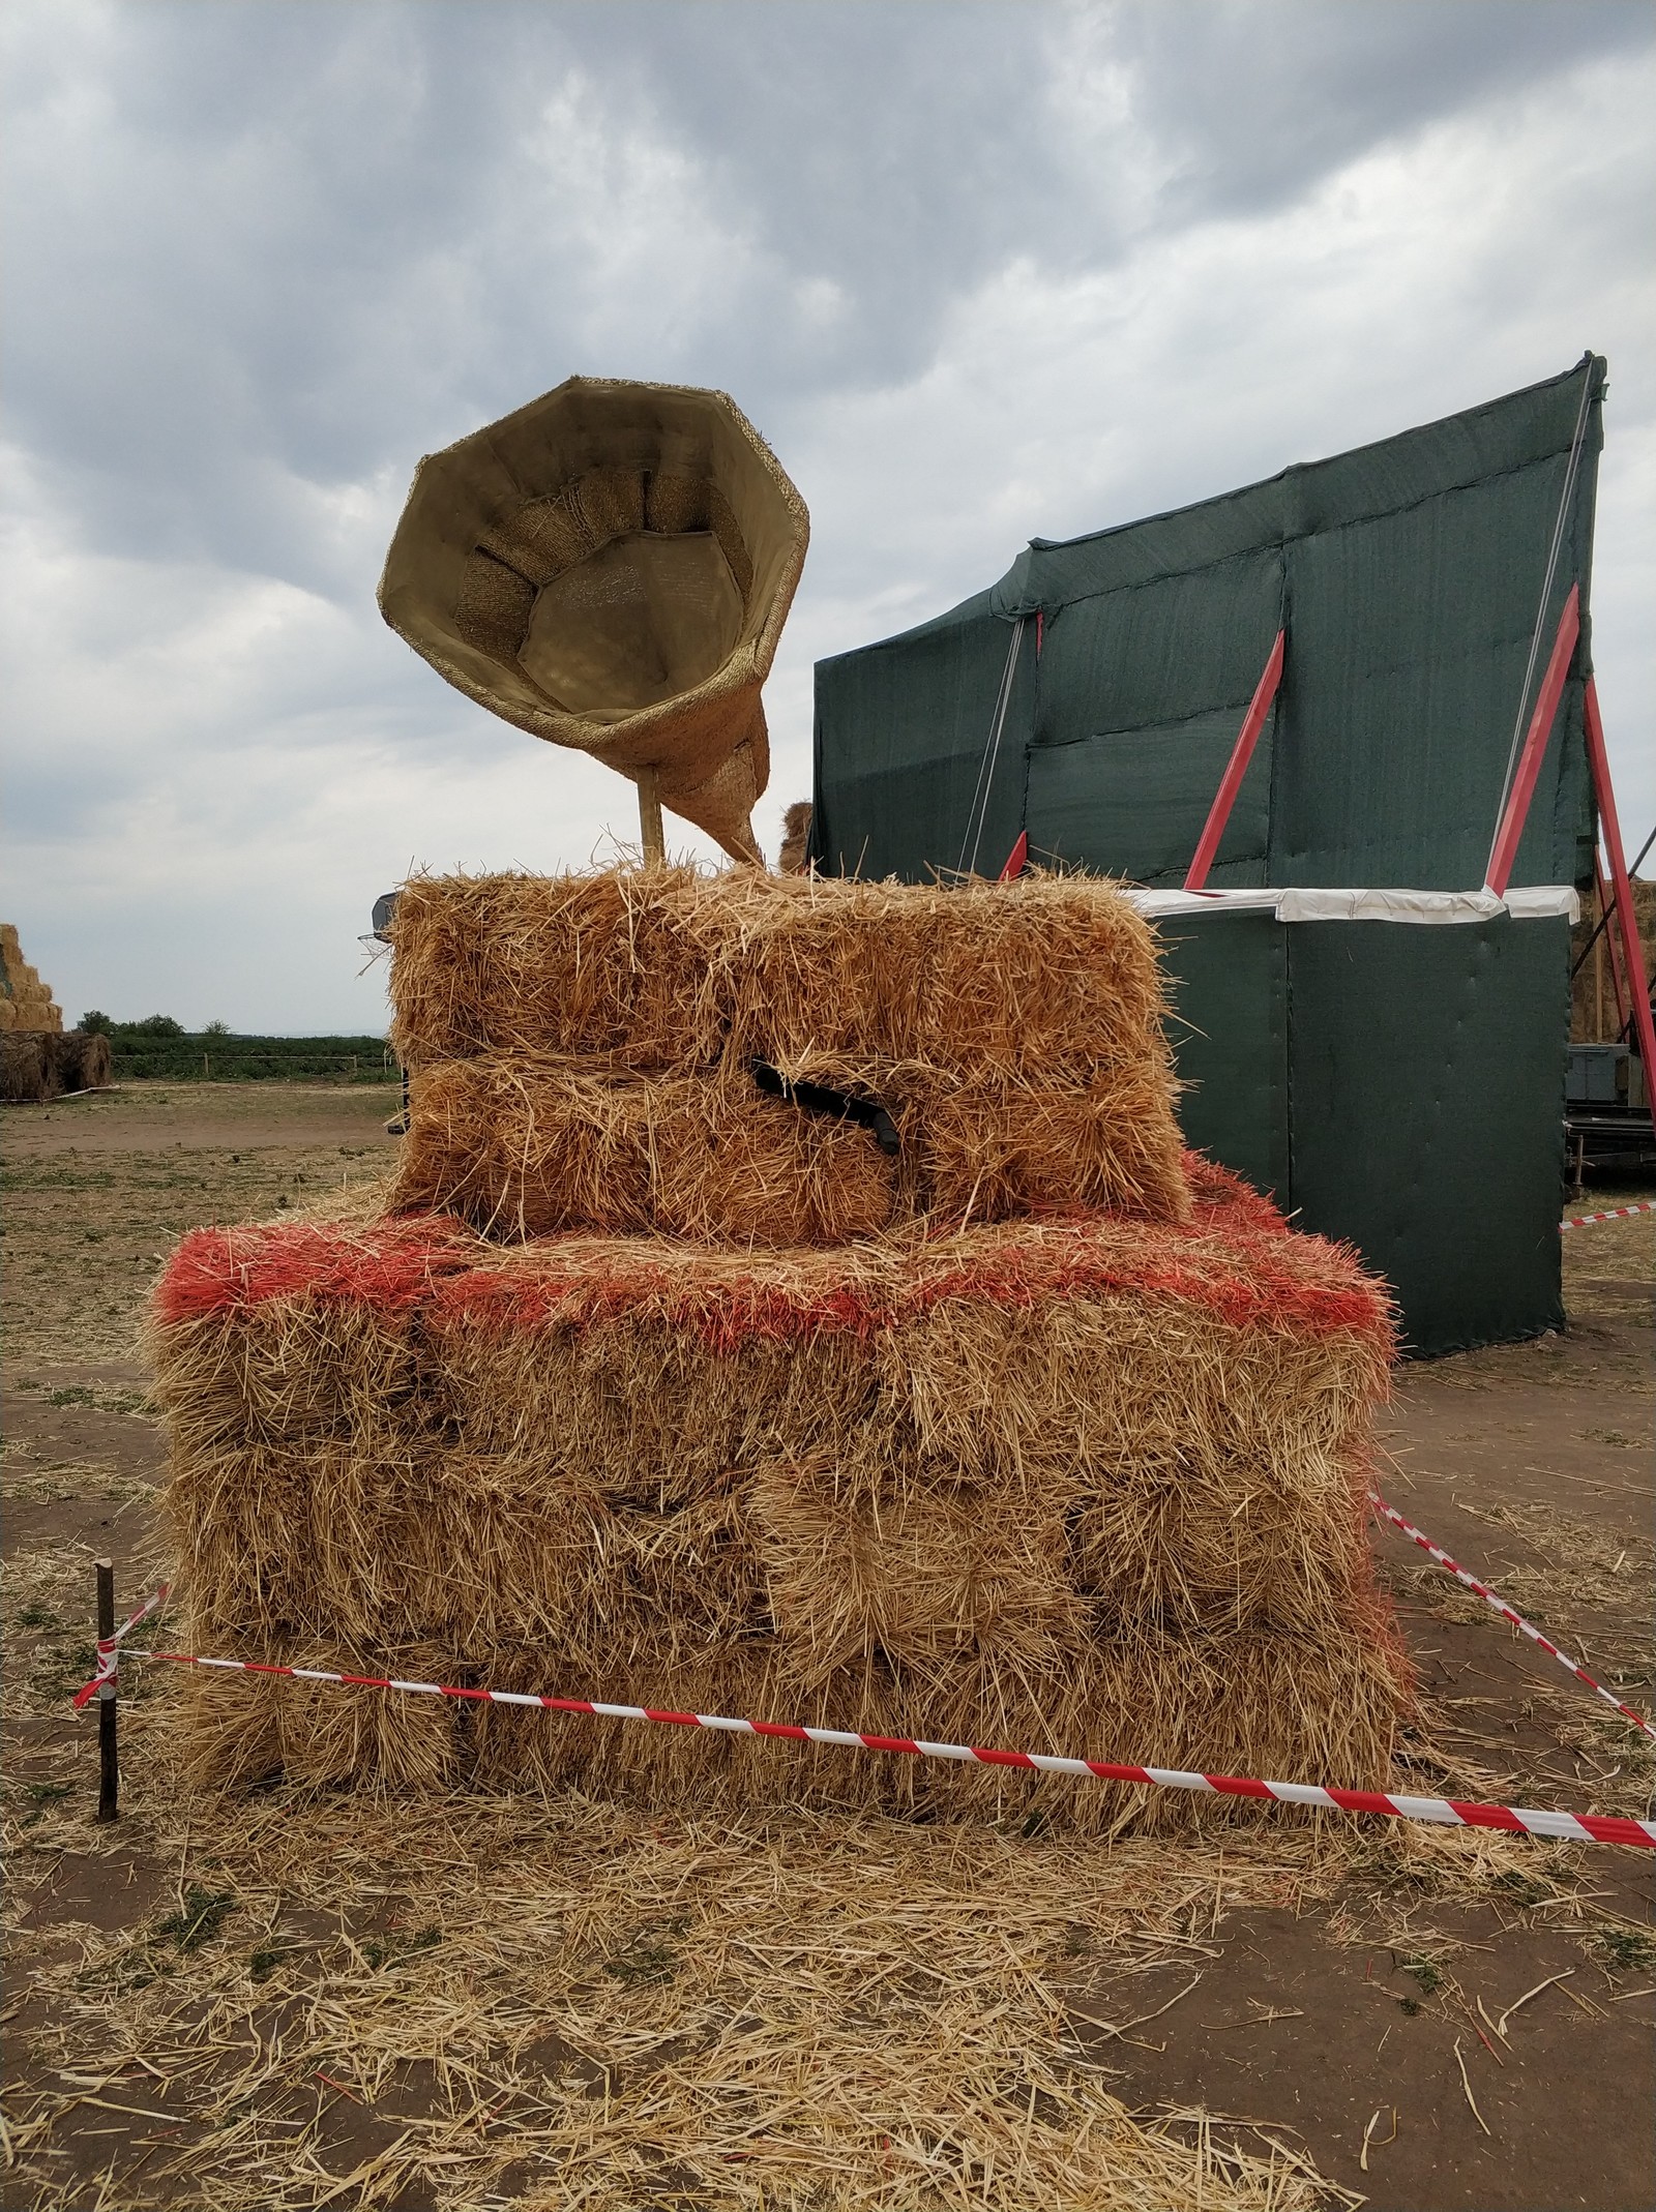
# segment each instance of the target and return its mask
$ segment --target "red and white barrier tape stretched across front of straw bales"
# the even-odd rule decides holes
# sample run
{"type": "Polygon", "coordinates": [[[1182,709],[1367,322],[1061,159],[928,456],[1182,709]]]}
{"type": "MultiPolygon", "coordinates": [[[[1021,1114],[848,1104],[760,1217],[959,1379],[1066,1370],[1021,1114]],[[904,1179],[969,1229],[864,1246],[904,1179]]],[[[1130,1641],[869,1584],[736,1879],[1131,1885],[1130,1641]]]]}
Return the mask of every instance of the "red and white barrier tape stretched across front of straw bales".
{"type": "Polygon", "coordinates": [[[1023,1767],[1034,1774],[1078,1774],[1111,1783],[1149,1783],[1158,1790],[1200,1790],[1213,1796],[1275,1798],[1280,1805],[1326,1805],[1335,1812],[1426,1820],[1435,1827],[1499,1827],[1561,1843],[1632,1843],[1656,1849],[1656,1820],[1603,1812],[1532,1812],[1519,1805],[1466,1805],[1457,1798],[1393,1796],[1379,1790],[1324,1790],[1317,1783],[1260,1783],[1238,1774],[1184,1774],[1178,1767],[1127,1767],[1107,1759],[1056,1759],[1049,1752],[992,1752],[979,1743],[921,1743],[910,1736],[863,1736],[848,1728],[799,1728],[790,1721],[733,1721],[722,1712],[651,1712],[649,1705],[604,1705],[589,1697],[538,1697],[527,1690],[458,1690],[441,1681],[396,1681],[390,1674],[334,1674],[328,1668],[268,1666],[259,1659],[204,1659],[197,1652],[146,1652],[173,1666],[226,1668],[237,1674],[279,1674],[288,1681],[332,1683],[345,1690],[405,1690],[414,1697],[456,1697],[478,1705],[527,1705],[536,1712],[584,1712],[600,1721],[658,1721],[669,1728],[713,1728],[733,1736],[782,1736],[861,1752],[905,1752],[910,1759],[952,1759],[985,1767],[1023,1767]]]}

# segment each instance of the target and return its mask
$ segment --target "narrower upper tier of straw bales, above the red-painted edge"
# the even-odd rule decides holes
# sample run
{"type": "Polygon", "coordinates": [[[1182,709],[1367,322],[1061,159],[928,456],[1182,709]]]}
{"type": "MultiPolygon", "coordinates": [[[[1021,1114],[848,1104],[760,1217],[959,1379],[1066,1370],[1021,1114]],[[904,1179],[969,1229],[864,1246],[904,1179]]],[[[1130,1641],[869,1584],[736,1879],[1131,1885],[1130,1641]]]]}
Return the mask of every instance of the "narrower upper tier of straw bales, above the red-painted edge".
{"type": "Polygon", "coordinates": [[[392,927],[403,1208],[784,1248],[1184,1212],[1153,945],[1105,885],[447,878],[392,927]]]}

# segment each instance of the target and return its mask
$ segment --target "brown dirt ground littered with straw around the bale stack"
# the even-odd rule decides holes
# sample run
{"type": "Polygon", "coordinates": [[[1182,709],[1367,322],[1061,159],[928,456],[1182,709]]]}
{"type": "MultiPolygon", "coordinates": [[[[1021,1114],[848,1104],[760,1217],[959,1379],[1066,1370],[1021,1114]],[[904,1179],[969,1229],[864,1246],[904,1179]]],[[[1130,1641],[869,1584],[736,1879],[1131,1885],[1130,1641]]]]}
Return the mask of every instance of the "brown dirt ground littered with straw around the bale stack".
{"type": "MultiPolygon", "coordinates": [[[[91,1562],[128,1604],[164,1571],[146,1290],[197,1223],[379,1175],[394,1104],[4,1108],[7,2208],[1656,2208],[1647,1854],[204,1798],[142,1661],[97,1827],[91,1562]]],[[[1656,1217],[1570,1232],[1565,1281],[1565,1336],[1401,1374],[1381,1489],[1652,1710],[1656,1217]]],[[[1649,1816],[1629,1725],[1375,1551],[1424,1692],[1395,1787],[1649,1816]]]]}

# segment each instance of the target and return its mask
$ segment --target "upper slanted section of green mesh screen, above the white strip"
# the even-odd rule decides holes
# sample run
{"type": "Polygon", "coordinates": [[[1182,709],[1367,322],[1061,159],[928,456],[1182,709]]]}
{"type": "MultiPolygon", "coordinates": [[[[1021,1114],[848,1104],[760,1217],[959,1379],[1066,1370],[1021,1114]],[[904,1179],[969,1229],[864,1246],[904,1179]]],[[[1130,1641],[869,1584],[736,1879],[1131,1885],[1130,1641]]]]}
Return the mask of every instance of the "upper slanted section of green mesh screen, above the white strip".
{"type": "MultiPolygon", "coordinates": [[[[1587,356],[1200,507],[1036,540],[994,591],[819,661],[817,863],[861,856],[905,880],[959,865],[1027,615],[1038,655],[1007,714],[985,867],[1027,827],[1069,865],[1180,880],[1286,624],[1282,692],[1209,880],[1479,885],[1579,427],[1543,655],[1570,586],[1587,595],[1603,369],[1587,356]]],[[[1587,666],[1583,626],[1514,883],[1592,874],[1587,666]]]]}

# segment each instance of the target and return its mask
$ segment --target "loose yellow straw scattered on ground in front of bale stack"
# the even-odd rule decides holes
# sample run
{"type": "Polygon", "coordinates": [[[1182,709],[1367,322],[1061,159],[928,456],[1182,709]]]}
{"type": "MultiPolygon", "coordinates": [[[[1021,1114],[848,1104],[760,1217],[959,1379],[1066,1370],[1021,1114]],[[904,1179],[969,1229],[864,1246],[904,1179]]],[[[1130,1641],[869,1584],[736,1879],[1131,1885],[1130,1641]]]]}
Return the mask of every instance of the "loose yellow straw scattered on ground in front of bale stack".
{"type": "Polygon", "coordinates": [[[1134,2121],[1065,2006],[1098,1951],[1149,1966],[1315,1896],[1339,1845],[1169,1860],[580,1796],[193,1798],[184,1823],[162,1736],[133,1767],[166,1896],[46,1971],[60,2073],[13,2117],[24,2172],[102,2099],[151,2150],[128,2205],[250,2212],[275,2172],[294,2205],[1331,2201],[1269,2128],[1134,2121]]]}

